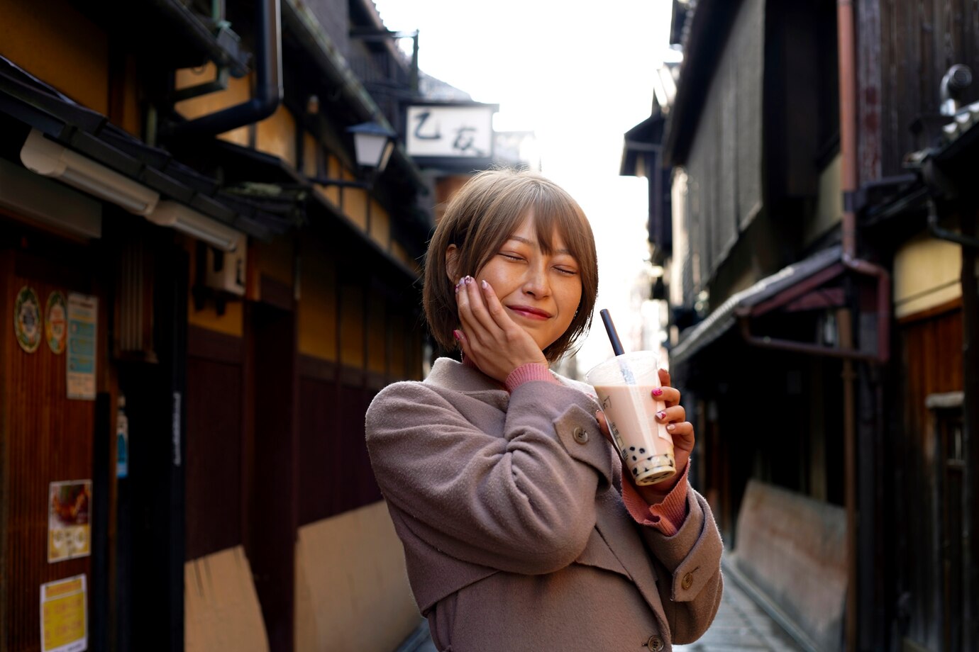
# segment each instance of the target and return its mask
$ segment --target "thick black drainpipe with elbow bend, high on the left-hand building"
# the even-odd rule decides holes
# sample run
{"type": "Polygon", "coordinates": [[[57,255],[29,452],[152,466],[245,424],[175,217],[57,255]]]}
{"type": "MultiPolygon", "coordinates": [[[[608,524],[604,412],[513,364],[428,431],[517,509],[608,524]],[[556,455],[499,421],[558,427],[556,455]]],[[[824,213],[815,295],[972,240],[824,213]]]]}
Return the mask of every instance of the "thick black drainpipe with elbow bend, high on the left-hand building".
{"type": "Polygon", "coordinates": [[[263,120],[282,102],[282,22],[279,0],[256,0],[255,70],[253,97],[234,107],[179,122],[170,127],[171,138],[214,136],[263,120]]]}

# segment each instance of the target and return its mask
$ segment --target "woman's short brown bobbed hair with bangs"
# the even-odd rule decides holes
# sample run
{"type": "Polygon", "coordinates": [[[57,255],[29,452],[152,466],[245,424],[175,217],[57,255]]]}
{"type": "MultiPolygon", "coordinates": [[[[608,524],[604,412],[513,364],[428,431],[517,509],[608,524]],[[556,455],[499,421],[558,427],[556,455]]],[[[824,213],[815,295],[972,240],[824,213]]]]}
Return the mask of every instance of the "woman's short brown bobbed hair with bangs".
{"type": "Polygon", "coordinates": [[[556,229],[578,262],[582,279],[582,300],[571,326],[544,349],[544,357],[555,362],[591,326],[598,293],[598,262],[595,239],[582,207],[557,184],[534,172],[487,170],[467,181],[449,200],[429,242],[425,318],[446,351],[455,348],[452,330],[459,326],[454,284],[445,269],[446,249],[450,244],[458,248],[456,276],[476,276],[531,210],[541,251],[551,252],[556,229]]]}

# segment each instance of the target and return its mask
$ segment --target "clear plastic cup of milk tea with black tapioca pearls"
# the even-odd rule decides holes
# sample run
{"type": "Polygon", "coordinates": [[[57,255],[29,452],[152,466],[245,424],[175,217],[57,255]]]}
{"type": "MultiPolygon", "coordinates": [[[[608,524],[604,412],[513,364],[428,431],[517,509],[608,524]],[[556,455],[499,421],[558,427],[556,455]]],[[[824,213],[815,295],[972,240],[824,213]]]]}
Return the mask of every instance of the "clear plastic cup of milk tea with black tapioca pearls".
{"type": "Polygon", "coordinates": [[[665,410],[652,391],[660,386],[659,360],[652,351],[616,356],[585,374],[595,388],[619,454],[636,485],[651,485],[676,473],[673,437],[656,420],[665,410]]]}

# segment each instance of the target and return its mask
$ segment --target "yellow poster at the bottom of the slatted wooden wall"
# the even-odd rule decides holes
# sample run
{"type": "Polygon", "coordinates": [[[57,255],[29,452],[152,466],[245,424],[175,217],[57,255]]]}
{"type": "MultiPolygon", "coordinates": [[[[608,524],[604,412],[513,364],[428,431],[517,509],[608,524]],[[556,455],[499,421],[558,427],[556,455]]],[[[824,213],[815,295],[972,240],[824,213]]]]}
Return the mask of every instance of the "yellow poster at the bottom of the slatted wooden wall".
{"type": "Polygon", "coordinates": [[[88,649],[85,576],[41,585],[41,652],[88,649]]]}

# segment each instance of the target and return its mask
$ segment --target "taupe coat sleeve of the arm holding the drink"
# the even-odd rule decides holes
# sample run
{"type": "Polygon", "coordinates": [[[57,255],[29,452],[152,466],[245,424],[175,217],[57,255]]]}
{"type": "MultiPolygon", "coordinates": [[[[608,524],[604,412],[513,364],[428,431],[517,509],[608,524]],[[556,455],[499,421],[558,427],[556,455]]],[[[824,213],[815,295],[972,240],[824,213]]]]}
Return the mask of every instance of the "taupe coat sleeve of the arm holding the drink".
{"type": "Polygon", "coordinates": [[[659,565],[657,588],[673,632],[674,642],[689,643],[699,638],[721,605],[723,543],[707,500],[687,490],[689,513],[672,537],[652,527],[641,534],[659,565]]]}

